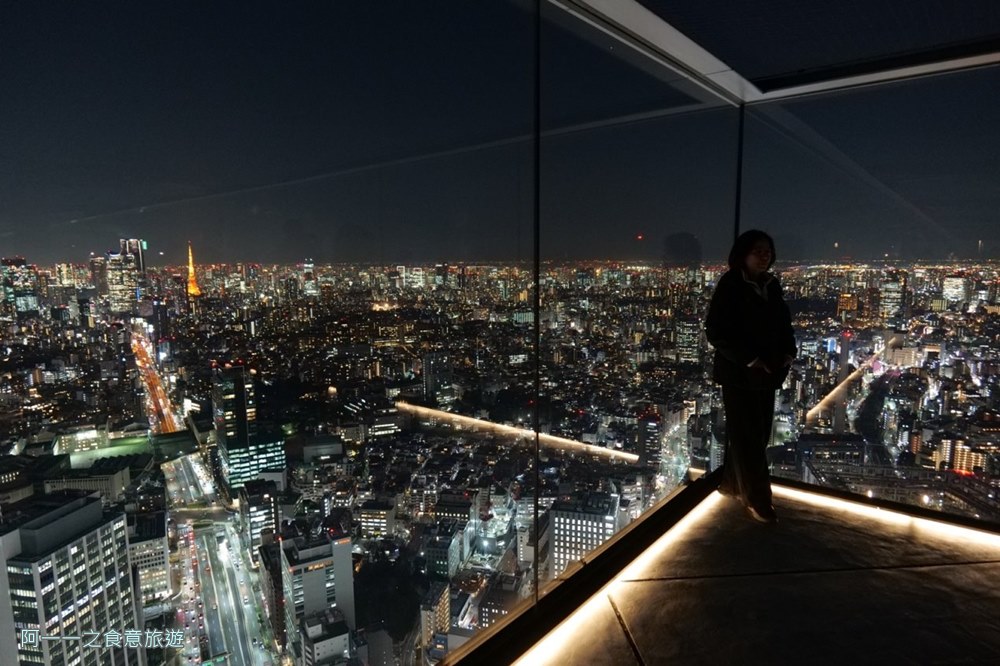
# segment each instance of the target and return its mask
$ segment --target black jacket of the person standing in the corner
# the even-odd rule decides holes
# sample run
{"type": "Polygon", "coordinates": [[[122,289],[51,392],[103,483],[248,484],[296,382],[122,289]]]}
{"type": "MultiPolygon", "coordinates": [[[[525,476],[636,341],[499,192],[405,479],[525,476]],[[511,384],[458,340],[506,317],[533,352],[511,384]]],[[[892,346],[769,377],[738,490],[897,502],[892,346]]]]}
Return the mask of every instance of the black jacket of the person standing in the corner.
{"type": "Polygon", "coordinates": [[[743,271],[729,270],[719,278],[705,319],[705,333],[715,347],[712,378],[719,384],[774,390],[788,375],[785,356],[795,356],[792,316],[776,277],[768,274],[762,289],[767,298],[743,271]],[[750,368],[755,359],[771,372],[750,368]]]}

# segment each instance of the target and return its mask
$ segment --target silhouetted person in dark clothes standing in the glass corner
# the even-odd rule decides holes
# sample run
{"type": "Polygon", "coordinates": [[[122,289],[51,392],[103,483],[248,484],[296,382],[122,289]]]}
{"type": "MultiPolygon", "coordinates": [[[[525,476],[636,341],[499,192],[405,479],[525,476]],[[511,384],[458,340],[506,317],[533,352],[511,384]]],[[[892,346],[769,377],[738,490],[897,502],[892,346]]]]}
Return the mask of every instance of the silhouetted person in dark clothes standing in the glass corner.
{"type": "Polygon", "coordinates": [[[769,272],[775,258],[769,235],[758,230],[741,234],[705,321],[715,347],[712,376],[722,385],[726,410],[720,491],[737,497],[751,517],[765,523],[777,520],[766,455],[774,396],[795,357],[791,314],[778,279],[769,272]]]}

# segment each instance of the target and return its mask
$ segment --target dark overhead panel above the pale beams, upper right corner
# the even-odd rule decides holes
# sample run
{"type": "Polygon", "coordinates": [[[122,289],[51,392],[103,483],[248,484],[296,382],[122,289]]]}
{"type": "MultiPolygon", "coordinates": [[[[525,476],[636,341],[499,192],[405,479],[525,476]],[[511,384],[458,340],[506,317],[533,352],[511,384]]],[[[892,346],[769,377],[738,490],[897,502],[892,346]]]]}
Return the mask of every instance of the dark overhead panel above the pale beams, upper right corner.
{"type": "Polygon", "coordinates": [[[640,2],[762,90],[991,53],[1000,30],[1000,11],[982,1],[961,12],[941,0],[911,0],[905,10],[866,0],[640,2]]]}

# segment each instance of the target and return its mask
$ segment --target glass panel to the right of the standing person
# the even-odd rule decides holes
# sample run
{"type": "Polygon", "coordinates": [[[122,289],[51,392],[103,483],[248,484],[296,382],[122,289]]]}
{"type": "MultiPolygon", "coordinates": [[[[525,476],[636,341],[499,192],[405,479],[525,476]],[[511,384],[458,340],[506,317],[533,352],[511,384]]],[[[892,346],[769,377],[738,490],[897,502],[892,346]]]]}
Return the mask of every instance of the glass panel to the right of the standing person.
{"type": "Polygon", "coordinates": [[[770,231],[799,356],[773,473],[1000,520],[988,68],[754,107],[743,220],[770,231]]]}

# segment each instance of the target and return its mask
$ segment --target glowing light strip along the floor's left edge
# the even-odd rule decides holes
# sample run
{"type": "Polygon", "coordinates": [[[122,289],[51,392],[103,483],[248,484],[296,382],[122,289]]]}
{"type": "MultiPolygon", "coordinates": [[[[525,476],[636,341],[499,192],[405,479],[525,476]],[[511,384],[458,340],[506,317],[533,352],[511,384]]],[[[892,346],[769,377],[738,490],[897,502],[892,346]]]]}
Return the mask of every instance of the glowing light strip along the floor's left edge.
{"type": "Polygon", "coordinates": [[[723,497],[719,493],[712,493],[705,498],[704,501],[681,518],[676,525],[657,539],[652,546],[643,551],[639,557],[622,569],[611,582],[602,587],[594,596],[587,599],[583,605],[573,611],[555,629],[546,634],[542,640],[521,655],[521,658],[514,662],[515,666],[536,666],[537,664],[563,661],[565,659],[566,645],[572,643],[581,634],[592,633],[594,627],[599,626],[595,623],[599,620],[600,614],[602,612],[609,612],[607,596],[613,591],[614,586],[620,585],[622,582],[627,582],[629,579],[643,577],[649,566],[661,559],[674,543],[684,538],[693,527],[702,521],[710,519],[710,516],[722,501],[723,497]]]}

